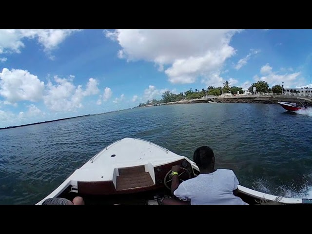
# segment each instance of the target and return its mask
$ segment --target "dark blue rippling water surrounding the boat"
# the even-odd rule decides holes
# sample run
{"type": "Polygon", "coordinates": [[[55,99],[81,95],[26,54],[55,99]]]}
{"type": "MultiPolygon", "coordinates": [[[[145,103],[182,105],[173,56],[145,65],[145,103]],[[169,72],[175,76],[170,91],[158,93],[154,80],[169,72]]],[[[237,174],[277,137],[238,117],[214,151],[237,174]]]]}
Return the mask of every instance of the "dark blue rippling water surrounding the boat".
{"type": "Polygon", "coordinates": [[[234,170],[241,185],[312,198],[309,114],[273,104],[181,104],[0,130],[0,204],[37,203],[124,137],[150,140],[191,159],[197,147],[208,145],[216,166],[234,170]]]}

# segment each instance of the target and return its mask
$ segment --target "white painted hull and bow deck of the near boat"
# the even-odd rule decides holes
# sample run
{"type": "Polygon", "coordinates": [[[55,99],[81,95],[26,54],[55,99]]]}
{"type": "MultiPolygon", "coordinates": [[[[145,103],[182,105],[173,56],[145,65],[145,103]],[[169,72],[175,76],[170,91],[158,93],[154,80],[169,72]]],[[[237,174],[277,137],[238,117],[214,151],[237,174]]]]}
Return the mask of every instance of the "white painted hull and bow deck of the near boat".
{"type": "MultiPolygon", "coordinates": [[[[105,147],[97,155],[89,159],[81,168],[77,169],[61,185],[59,185],[57,189],[39,201],[37,205],[42,204],[47,198],[57,197],[69,185],[72,185],[73,188],[77,189],[78,181],[113,181],[116,186],[116,177],[119,176],[118,169],[120,168],[144,165],[145,172],[149,172],[155,182],[154,167],[181,159],[186,159],[191,163],[193,169],[199,171],[195,162],[185,156],[179,156],[168,149],[147,140],[126,137],[105,147]]],[[[241,185],[238,185],[238,190],[239,192],[250,195],[254,198],[272,201],[278,199],[275,195],[258,192],[241,185]]],[[[301,204],[312,203],[312,199],[282,197],[279,202],[286,204],[301,204]]]]}

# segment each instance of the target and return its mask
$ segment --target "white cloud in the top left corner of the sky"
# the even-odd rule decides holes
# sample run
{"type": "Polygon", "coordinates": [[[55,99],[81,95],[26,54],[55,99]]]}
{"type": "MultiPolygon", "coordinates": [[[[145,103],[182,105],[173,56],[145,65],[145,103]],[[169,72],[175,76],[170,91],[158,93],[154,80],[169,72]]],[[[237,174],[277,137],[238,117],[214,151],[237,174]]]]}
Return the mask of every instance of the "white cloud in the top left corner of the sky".
{"type": "Polygon", "coordinates": [[[0,29],[0,54],[20,53],[24,39],[37,39],[49,53],[77,29],[0,29]]]}

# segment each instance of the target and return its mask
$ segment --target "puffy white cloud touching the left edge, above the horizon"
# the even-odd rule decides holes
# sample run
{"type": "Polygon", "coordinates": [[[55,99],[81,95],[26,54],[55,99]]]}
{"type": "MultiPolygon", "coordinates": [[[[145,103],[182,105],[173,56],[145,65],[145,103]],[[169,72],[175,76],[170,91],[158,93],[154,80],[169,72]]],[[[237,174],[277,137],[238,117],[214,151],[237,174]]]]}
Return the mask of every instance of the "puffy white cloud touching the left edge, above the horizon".
{"type": "Polygon", "coordinates": [[[44,82],[28,71],[3,68],[0,73],[0,96],[12,104],[21,100],[39,101],[43,90],[44,82]]]}

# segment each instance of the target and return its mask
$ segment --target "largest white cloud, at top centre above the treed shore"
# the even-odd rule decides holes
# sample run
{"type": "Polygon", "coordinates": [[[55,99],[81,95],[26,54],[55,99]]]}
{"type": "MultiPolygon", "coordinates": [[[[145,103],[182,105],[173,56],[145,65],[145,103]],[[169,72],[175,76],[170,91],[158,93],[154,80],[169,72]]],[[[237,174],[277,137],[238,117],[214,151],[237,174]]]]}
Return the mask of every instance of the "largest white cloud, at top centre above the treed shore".
{"type": "MultiPolygon", "coordinates": [[[[104,33],[122,47],[119,58],[154,62],[172,83],[194,83],[199,76],[213,79],[226,59],[235,54],[229,45],[241,30],[114,30],[104,33]]],[[[213,81],[214,82],[214,81],[213,81]]]]}

